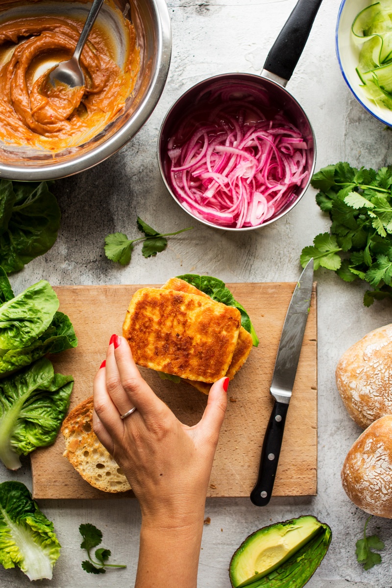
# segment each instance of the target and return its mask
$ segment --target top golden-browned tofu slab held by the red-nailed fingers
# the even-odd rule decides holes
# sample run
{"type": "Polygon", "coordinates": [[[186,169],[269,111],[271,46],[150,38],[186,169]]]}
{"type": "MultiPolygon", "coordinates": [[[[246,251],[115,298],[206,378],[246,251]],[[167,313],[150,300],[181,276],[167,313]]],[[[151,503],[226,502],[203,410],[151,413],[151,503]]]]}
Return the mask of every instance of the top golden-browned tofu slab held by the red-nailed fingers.
{"type": "Polygon", "coordinates": [[[240,326],[239,310],[209,297],[142,288],[130,301],[123,336],[138,365],[212,383],[229,368],[240,326]]]}

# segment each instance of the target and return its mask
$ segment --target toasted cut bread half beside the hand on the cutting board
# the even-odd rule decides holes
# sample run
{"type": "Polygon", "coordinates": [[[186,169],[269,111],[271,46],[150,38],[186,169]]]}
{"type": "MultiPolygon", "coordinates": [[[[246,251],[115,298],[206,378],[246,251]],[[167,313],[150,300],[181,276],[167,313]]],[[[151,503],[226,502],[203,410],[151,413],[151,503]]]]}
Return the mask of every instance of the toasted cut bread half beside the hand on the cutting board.
{"type": "Polygon", "coordinates": [[[86,482],[103,492],[130,490],[128,480],[92,429],[93,397],[76,406],[63,422],[63,456],[86,482]]]}

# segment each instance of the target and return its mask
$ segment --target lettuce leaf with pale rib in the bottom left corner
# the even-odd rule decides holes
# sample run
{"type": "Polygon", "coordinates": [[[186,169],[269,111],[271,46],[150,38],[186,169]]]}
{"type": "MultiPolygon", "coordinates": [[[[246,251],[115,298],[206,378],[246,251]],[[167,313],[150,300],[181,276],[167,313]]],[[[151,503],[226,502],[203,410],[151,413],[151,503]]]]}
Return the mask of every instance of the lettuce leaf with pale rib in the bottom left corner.
{"type": "Polygon", "coordinates": [[[53,523],[46,519],[21,482],[0,484],[0,563],[19,566],[30,580],[52,579],[60,544],[53,523]]]}

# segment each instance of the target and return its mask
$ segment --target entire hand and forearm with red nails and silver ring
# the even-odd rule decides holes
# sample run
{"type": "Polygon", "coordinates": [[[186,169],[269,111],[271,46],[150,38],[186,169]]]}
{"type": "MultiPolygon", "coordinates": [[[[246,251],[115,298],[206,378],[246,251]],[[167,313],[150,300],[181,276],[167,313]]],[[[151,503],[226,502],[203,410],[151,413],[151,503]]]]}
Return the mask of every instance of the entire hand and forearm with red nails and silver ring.
{"type": "Polygon", "coordinates": [[[228,377],[215,382],[200,422],[183,425],[140,376],[127,340],[110,339],[94,380],[93,426],[139,500],[135,588],[197,586],[207,486],[228,383],[228,377]],[[121,419],[130,406],[136,412],[121,419]]]}

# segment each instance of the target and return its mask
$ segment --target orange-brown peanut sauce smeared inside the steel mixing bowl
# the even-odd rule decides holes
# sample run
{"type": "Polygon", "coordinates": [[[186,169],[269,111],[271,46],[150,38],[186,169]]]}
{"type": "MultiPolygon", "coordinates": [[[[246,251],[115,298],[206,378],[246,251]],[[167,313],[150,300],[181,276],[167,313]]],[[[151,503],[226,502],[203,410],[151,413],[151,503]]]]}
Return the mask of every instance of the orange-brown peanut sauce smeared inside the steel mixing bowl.
{"type": "Polygon", "coordinates": [[[53,66],[71,58],[84,22],[30,16],[0,22],[0,140],[51,152],[78,146],[116,118],[139,71],[135,28],[124,21],[126,58],[116,63],[112,39],[97,23],[83,48],[85,86],[55,87],[53,66]]]}

